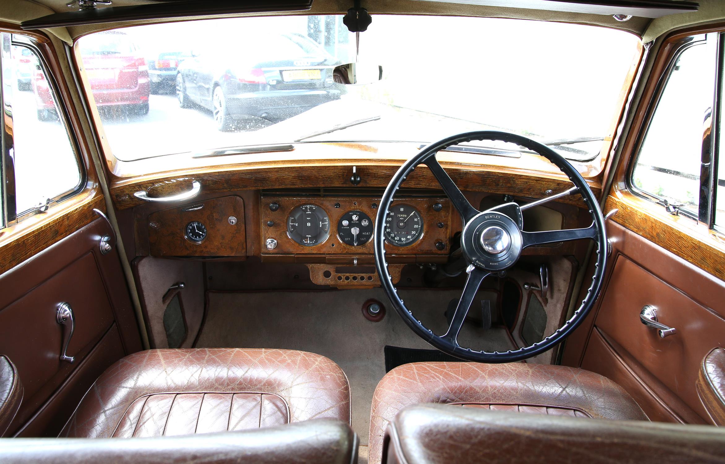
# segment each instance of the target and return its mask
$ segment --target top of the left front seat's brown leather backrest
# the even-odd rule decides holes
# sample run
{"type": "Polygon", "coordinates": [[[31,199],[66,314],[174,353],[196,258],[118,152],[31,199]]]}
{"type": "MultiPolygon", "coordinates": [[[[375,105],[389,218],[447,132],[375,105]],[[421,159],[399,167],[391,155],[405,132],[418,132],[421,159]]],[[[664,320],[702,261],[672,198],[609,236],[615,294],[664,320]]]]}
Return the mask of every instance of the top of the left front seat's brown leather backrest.
{"type": "Polygon", "coordinates": [[[3,464],[353,464],[357,437],[341,421],[144,439],[0,440],[3,464]]]}

